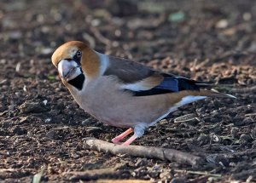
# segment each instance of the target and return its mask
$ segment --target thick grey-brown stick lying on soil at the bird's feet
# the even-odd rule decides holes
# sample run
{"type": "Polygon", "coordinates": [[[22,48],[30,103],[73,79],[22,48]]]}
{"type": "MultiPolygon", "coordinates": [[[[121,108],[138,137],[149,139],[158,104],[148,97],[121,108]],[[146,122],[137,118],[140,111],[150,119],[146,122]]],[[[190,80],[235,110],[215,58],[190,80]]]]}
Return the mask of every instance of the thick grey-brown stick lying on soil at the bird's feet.
{"type": "Polygon", "coordinates": [[[133,157],[158,158],[161,160],[175,161],[177,163],[188,163],[193,166],[204,162],[201,157],[173,149],[149,146],[119,146],[102,140],[86,140],[86,144],[90,146],[90,149],[99,152],[110,152],[114,155],[126,154],[133,157]]]}

